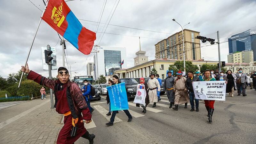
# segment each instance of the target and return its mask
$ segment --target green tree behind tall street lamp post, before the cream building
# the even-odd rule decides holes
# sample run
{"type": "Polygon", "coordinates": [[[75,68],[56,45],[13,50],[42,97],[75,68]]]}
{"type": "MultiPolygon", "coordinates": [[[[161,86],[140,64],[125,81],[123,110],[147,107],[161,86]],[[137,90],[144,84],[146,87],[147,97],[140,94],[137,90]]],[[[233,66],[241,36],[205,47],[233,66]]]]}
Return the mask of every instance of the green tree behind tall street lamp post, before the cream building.
{"type": "MultiPolygon", "coordinates": [[[[192,71],[196,72],[199,68],[196,65],[193,65],[191,61],[186,61],[186,72],[192,71]]],[[[179,70],[184,71],[183,61],[176,61],[173,65],[170,65],[169,70],[173,70],[173,75],[176,76],[176,72],[179,70]]]]}

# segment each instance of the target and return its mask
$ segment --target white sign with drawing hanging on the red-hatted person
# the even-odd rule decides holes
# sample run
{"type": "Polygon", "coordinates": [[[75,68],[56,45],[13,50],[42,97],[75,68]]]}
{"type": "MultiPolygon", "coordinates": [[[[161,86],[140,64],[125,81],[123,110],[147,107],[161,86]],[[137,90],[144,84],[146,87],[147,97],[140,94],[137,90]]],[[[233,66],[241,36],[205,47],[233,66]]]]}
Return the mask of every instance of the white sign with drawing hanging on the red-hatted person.
{"type": "Polygon", "coordinates": [[[145,99],[146,99],[146,89],[145,89],[145,85],[144,84],[138,84],[137,85],[137,93],[136,93],[136,96],[133,100],[133,103],[138,103],[138,104],[141,104],[143,106],[146,106],[146,102],[145,102],[145,99]]]}

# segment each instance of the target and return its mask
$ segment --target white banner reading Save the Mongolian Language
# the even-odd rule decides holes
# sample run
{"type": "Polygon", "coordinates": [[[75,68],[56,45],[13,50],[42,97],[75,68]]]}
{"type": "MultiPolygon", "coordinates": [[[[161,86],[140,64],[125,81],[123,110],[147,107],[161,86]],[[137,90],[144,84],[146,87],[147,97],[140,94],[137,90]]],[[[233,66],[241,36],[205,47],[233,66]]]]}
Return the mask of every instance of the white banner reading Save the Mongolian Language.
{"type": "Polygon", "coordinates": [[[195,98],[199,100],[220,100],[226,99],[225,81],[200,81],[193,82],[195,98]]]}

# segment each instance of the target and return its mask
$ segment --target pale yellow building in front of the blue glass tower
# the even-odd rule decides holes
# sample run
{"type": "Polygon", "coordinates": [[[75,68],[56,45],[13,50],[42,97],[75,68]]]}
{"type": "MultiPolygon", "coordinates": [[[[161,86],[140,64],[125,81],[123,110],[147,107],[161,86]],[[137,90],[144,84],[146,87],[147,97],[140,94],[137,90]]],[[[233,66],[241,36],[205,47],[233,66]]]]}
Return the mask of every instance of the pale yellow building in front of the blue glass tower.
{"type": "Polygon", "coordinates": [[[228,63],[250,63],[253,62],[253,51],[246,50],[228,54],[228,63]]]}

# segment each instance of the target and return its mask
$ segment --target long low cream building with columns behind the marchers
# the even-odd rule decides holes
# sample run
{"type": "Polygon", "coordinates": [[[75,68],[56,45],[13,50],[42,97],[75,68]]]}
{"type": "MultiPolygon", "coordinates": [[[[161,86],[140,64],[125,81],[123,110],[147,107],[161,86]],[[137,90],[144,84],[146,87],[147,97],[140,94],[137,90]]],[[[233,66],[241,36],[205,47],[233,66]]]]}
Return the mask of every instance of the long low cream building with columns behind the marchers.
{"type": "MultiPolygon", "coordinates": [[[[148,62],[142,63],[140,65],[134,66],[132,68],[122,68],[115,71],[115,74],[119,78],[138,78],[138,77],[148,77],[150,71],[155,68],[160,78],[166,78],[166,72],[169,69],[170,65],[173,65],[176,61],[179,60],[170,60],[170,59],[156,59],[150,60],[148,62]]],[[[217,65],[219,61],[204,61],[202,60],[191,60],[192,64],[197,65],[200,71],[200,66],[203,64],[212,64],[217,65]]],[[[176,73],[176,72],[175,72],[176,73]]]]}

